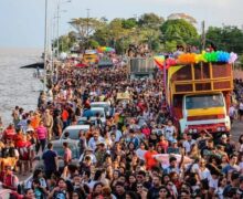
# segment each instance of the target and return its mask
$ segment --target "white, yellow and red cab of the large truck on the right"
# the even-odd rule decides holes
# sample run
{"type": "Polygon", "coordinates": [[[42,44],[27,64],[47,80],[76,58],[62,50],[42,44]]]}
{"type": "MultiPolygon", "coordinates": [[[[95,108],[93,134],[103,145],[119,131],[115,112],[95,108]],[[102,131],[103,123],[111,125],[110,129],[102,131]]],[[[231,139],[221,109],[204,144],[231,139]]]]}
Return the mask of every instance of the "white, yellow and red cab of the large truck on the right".
{"type": "Polygon", "coordinates": [[[182,100],[180,128],[182,132],[200,133],[229,132],[231,129],[226,103],[223,93],[205,93],[184,95],[182,100]]]}

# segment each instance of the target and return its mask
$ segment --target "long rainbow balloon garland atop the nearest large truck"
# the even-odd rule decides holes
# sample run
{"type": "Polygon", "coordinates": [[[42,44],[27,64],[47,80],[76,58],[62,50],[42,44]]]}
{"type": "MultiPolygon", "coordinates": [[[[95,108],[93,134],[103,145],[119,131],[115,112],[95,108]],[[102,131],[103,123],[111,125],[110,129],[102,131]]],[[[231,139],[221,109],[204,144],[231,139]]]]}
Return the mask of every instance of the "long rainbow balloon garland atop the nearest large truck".
{"type": "Polygon", "coordinates": [[[228,53],[224,51],[215,51],[215,52],[205,52],[202,51],[201,54],[196,53],[184,53],[180,54],[177,59],[165,56],[155,56],[155,63],[159,69],[162,69],[166,65],[168,69],[171,65],[178,64],[193,64],[199,62],[223,62],[223,63],[234,63],[237,60],[237,54],[228,53]]]}

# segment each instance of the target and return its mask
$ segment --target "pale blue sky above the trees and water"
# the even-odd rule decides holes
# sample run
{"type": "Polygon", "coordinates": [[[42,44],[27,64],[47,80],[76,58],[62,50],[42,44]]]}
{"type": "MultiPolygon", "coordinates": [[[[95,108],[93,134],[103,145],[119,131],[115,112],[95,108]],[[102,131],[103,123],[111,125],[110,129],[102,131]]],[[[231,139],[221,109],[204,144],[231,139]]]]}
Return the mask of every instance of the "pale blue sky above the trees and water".
{"type": "MultiPolygon", "coordinates": [[[[59,0],[47,0],[49,30],[56,23],[59,0]]],[[[71,31],[72,18],[87,15],[108,20],[155,12],[165,19],[171,13],[188,13],[205,25],[243,25],[242,0],[67,0],[61,1],[60,34],[71,31]]],[[[43,48],[45,0],[0,0],[0,48],[43,48]]],[[[55,25],[56,27],[56,25],[55,25]]],[[[52,30],[52,31],[51,31],[52,30]]],[[[54,30],[54,31],[53,31],[54,30]]]]}

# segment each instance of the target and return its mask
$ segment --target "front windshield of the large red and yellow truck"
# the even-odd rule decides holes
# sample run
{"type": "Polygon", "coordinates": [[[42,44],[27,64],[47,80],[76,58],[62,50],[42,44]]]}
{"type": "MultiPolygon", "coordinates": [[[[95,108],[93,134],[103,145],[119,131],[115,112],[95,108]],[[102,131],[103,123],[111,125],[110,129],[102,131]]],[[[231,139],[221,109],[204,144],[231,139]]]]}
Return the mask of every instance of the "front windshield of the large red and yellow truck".
{"type": "Polygon", "coordinates": [[[223,96],[221,94],[190,95],[186,97],[186,108],[210,108],[223,107],[223,96]]]}

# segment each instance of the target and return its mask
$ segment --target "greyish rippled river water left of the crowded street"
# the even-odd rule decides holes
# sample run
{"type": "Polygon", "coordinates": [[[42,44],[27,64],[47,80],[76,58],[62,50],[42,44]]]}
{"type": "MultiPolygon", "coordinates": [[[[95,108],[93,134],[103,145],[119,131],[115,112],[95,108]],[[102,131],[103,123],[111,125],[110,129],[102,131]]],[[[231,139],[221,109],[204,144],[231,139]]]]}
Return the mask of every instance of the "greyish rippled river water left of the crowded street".
{"type": "Polygon", "coordinates": [[[25,111],[36,108],[43,84],[33,77],[34,69],[20,69],[40,61],[38,49],[0,49],[0,116],[9,124],[15,105],[25,111]]]}

